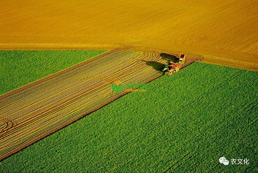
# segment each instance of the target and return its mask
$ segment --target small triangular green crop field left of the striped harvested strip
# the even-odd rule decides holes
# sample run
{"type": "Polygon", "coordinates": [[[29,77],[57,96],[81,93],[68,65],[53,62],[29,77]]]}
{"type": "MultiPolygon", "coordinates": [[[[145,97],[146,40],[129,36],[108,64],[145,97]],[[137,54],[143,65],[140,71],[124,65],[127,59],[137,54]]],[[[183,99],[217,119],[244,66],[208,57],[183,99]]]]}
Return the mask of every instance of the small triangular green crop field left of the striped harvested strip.
{"type": "Polygon", "coordinates": [[[0,51],[0,95],[103,52],[106,51],[0,51]]]}

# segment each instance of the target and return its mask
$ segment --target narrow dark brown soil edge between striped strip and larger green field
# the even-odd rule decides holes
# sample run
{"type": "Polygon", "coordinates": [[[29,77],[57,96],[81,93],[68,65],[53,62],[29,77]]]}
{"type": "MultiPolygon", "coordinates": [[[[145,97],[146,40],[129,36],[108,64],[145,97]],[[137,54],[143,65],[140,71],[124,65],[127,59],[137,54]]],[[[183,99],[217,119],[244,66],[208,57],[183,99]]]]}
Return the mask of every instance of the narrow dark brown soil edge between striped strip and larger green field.
{"type": "MultiPolygon", "coordinates": [[[[107,53],[107,52],[106,52],[106,53],[107,53]]],[[[152,78],[148,79],[148,80],[145,81],[145,82],[148,83],[148,82],[150,82],[150,81],[152,81],[152,80],[154,80],[154,79],[157,79],[158,77],[160,77],[160,76],[162,76],[162,75],[163,75],[163,74],[159,73],[159,74],[153,76],[152,78]]],[[[111,103],[112,101],[115,101],[116,99],[118,99],[118,98],[120,98],[120,97],[122,97],[122,96],[124,96],[124,95],[126,95],[126,94],[128,94],[128,93],[130,93],[130,92],[122,92],[122,93],[116,95],[114,98],[112,98],[112,99],[110,99],[110,100],[107,100],[107,101],[104,102],[104,103],[101,103],[100,105],[96,106],[96,107],[93,108],[92,110],[87,111],[87,112],[85,112],[85,113],[83,113],[83,114],[81,114],[81,115],[79,115],[79,116],[77,116],[77,117],[71,119],[70,121],[68,121],[68,122],[66,122],[66,123],[64,123],[64,124],[62,124],[62,125],[60,125],[60,126],[54,128],[54,129],[50,130],[49,132],[47,132],[47,133],[45,133],[45,134],[42,134],[41,136],[39,136],[39,137],[37,137],[37,138],[35,138],[35,139],[33,139],[33,140],[27,142],[27,143],[25,143],[25,144],[23,144],[23,145],[21,145],[21,146],[15,148],[14,150],[11,150],[11,151],[5,153],[4,155],[0,156],[0,161],[6,159],[7,157],[9,157],[9,156],[11,156],[11,155],[17,153],[18,151],[20,151],[20,150],[22,150],[22,149],[24,149],[24,148],[29,147],[30,145],[32,145],[32,144],[36,143],[37,141],[39,141],[39,140],[41,140],[41,139],[43,139],[43,138],[45,138],[45,137],[47,137],[47,136],[53,134],[54,132],[56,132],[56,131],[58,131],[58,130],[61,130],[62,128],[67,127],[67,126],[70,125],[71,123],[73,123],[73,122],[75,122],[75,121],[78,121],[79,119],[81,119],[81,118],[87,116],[88,114],[90,114],[90,113],[92,113],[92,112],[94,112],[94,111],[96,111],[96,110],[98,110],[98,109],[104,107],[105,105],[111,103]]]]}

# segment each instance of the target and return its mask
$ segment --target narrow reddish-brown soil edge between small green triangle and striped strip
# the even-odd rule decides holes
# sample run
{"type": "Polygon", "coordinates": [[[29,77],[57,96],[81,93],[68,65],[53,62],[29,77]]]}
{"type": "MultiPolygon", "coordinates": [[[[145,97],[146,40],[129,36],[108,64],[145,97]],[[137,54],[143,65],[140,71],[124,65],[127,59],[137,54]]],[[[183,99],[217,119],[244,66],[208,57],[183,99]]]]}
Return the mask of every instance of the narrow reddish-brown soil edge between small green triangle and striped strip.
{"type": "Polygon", "coordinates": [[[77,68],[77,67],[80,67],[80,66],[82,66],[82,65],[84,65],[84,64],[87,64],[87,63],[89,63],[89,62],[92,62],[92,61],[94,61],[94,60],[97,60],[97,59],[99,59],[99,58],[101,58],[101,57],[103,57],[103,56],[106,56],[106,55],[111,54],[111,53],[113,53],[113,52],[115,52],[115,51],[118,51],[118,50],[119,50],[119,48],[116,48],[116,49],[113,49],[113,50],[111,50],[111,51],[104,52],[104,53],[102,53],[102,54],[100,54],[100,55],[97,55],[97,56],[95,56],[95,57],[93,57],[93,58],[91,58],[91,59],[89,59],[89,60],[83,61],[83,62],[81,62],[81,63],[79,63],[79,64],[74,65],[74,66],[71,66],[71,67],[69,67],[68,69],[65,69],[65,70],[59,71],[59,72],[57,72],[57,73],[51,74],[50,76],[47,76],[47,77],[45,77],[45,78],[43,78],[43,79],[39,79],[39,80],[34,81],[34,82],[32,82],[32,83],[26,84],[25,86],[22,86],[22,87],[20,87],[20,88],[17,88],[17,89],[15,89],[15,90],[13,90],[13,91],[7,92],[7,93],[5,93],[5,94],[3,94],[3,95],[0,95],[0,100],[3,99],[3,98],[8,97],[9,95],[15,94],[15,93],[17,93],[17,92],[19,92],[19,91],[21,91],[21,90],[27,89],[27,88],[29,88],[29,87],[31,87],[31,86],[34,86],[34,85],[38,84],[38,83],[41,83],[41,82],[44,82],[44,81],[46,81],[46,80],[52,79],[52,78],[54,78],[54,77],[56,77],[56,76],[58,76],[58,75],[60,75],[60,74],[63,74],[63,73],[68,72],[68,71],[70,71],[70,70],[73,70],[73,69],[75,69],[75,68],[77,68]]]}

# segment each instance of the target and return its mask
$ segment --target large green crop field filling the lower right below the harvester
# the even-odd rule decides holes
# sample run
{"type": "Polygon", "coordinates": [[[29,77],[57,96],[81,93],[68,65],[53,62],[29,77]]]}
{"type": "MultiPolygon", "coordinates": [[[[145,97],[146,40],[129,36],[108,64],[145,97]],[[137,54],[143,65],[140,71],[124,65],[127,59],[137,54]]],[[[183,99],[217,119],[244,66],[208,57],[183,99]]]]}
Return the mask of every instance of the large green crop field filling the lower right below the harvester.
{"type": "Polygon", "coordinates": [[[257,83],[257,72],[193,63],[3,160],[0,170],[258,172],[257,83]]]}

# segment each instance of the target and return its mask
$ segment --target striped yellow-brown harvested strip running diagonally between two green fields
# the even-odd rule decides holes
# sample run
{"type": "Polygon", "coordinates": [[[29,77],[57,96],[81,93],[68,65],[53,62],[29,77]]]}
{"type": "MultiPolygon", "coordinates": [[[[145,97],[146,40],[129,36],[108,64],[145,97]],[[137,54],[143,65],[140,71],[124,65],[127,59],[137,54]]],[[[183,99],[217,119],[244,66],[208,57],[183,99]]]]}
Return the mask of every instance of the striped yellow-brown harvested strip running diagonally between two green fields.
{"type": "Polygon", "coordinates": [[[0,160],[128,93],[113,92],[113,82],[147,83],[163,75],[152,64],[168,62],[159,52],[118,48],[0,96],[0,160]]]}

